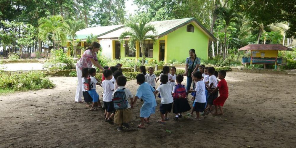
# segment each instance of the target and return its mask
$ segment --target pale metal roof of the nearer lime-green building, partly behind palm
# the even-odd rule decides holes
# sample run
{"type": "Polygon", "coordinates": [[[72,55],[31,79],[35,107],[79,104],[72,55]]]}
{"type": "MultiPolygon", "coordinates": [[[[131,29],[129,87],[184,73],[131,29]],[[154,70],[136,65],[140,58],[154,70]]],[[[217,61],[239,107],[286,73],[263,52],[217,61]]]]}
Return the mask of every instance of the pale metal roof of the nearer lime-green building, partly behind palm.
{"type": "MultiPolygon", "coordinates": [[[[206,29],[204,28],[195,18],[184,18],[184,19],[176,19],[176,20],[164,20],[164,21],[156,21],[156,22],[149,22],[149,24],[152,24],[155,26],[157,30],[157,34],[154,34],[158,38],[161,38],[162,36],[165,36],[166,34],[176,30],[177,28],[180,28],[190,22],[194,22],[197,27],[200,28],[209,38],[210,41],[216,41],[216,38],[206,29]]],[[[99,36],[99,39],[102,38],[118,38],[121,33],[124,31],[129,30],[128,28],[121,28],[118,30],[115,30],[113,32],[107,33],[103,36],[99,36]]],[[[149,32],[153,34],[152,32],[149,32]]]]}

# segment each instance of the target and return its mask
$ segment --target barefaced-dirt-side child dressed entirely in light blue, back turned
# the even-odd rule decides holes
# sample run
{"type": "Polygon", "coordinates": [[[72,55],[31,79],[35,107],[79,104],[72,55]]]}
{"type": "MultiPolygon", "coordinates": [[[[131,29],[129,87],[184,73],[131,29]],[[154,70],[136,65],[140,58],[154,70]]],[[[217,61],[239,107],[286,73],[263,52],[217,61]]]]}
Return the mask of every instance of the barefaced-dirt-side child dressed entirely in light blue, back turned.
{"type": "Polygon", "coordinates": [[[136,76],[136,79],[137,84],[139,84],[140,86],[137,90],[132,106],[136,104],[136,101],[139,98],[142,98],[144,100],[144,104],[142,105],[140,110],[141,124],[138,125],[138,128],[146,128],[144,126],[144,122],[149,123],[150,115],[155,113],[156,100],[153,94],[153,91],[155,91],[155,89],[145,82],[145,76],[143,74],[138,74],[136,76]]]}

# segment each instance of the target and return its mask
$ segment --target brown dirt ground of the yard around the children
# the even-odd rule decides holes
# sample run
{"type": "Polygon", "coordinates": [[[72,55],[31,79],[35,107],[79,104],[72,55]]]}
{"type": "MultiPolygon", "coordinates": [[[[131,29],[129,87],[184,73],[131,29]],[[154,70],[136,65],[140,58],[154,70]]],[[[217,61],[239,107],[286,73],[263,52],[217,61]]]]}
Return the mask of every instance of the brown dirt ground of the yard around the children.
{"type": "MultiPolygon", "coordinates": [[[[54,89],[0,96],[0,147],[295,147],[295,78],[229,72],[224,116],[181,118],[162,125],[157,123],[158,105],[147,129],[138,129],[138,100],[132,129],[119,132],[104,122],[103,110],[89,111],[85,104],[74,103],[76,78],[51,77],[54,89]]],[[[135,80],[127,83],[133,94],[137,87],[135,80]]]]}

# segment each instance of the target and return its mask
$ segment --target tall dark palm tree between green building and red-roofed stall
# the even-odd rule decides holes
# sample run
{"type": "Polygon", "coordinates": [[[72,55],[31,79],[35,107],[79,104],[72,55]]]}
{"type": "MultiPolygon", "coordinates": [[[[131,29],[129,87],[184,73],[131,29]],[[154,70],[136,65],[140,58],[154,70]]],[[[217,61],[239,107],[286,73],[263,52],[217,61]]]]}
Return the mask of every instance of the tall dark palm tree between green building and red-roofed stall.
{"type": "Polygon", "coordinates": [[[236,22],[239,23],[239,18],[240,15],[235,12],[233,8],[224,8],[220,7],[218,9],[220,17],[225,21],[225,28],[224,28],[224,53],[223,53],[223,59],[225,59],[225,54],[226,54],[226,33],[227,33],[227,28],[231,22],[236,22]]]}

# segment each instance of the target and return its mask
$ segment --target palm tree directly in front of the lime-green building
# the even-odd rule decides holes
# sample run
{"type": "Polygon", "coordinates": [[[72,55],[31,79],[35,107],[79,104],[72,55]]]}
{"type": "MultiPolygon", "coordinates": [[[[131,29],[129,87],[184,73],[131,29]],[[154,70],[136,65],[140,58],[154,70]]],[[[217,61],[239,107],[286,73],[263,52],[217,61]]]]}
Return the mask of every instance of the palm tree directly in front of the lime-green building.
{"type": "Polygon", "coordinates": [[[121,33],[119,41],[121,44],[125,44],[124,39],[129,38],[128,47],[130,50],[135,51],[136,42],[139,42],[142,52],[142,65],[145,63],[145,46],[144,42],[147,39],[152,39],[153,44],[156,41],[155,35],[157,34],[156,28],[148,24],[146,20],[141,20],[139,23],[128,23],[125,25],[126,31],[121,33]]]}

